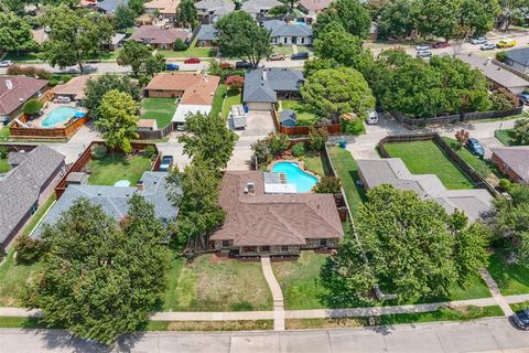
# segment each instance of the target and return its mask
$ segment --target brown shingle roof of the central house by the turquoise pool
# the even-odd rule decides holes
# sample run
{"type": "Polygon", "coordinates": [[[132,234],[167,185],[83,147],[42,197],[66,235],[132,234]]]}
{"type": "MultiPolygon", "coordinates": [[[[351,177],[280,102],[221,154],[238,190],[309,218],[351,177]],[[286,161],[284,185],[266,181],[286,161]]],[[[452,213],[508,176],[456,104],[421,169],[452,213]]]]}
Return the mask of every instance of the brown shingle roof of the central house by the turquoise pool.
{"type": "Polygon", "coordinates": [[[233,239],[235,246],[303,245],[311,238],[341,238],[344,234],[331,194],[264,194],[262,172],[226,172],[219,204],[224,225],[210,239],[233,239]],[[245,194],[248,182],[253,195],[245,194]]]}

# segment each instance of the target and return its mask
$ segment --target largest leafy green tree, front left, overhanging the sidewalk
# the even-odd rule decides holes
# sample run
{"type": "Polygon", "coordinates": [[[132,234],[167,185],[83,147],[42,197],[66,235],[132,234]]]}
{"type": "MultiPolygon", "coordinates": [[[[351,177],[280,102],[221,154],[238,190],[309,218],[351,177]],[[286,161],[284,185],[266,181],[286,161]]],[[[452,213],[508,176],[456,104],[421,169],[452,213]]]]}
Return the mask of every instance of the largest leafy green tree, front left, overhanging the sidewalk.
{"type": "Polygon", "coordinates": [[[169,254],[154,206],[134,194],[119,223],[77,200],[42,234],[43,268],[25,303],[50,327],[111,344],[144,327],[165,288],[169,254]]]}

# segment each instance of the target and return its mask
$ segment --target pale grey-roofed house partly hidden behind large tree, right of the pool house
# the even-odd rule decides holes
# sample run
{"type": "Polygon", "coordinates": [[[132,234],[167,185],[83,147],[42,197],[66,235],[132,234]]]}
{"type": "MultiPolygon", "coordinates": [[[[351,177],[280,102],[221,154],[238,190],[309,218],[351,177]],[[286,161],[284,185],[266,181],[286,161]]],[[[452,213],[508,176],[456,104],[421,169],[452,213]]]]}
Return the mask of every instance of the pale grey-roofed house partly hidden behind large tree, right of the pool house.
{"type": "Polygon", "coordinates": [[[359,159],[357,163],[366,190],[381,184],[411,190],[421,199],[436,201],[447,213],[458,208],[473,221],[490,211],[493,196],[485,189],[447,190],[438,175],[410,173],[400,158],[359,159]]]}

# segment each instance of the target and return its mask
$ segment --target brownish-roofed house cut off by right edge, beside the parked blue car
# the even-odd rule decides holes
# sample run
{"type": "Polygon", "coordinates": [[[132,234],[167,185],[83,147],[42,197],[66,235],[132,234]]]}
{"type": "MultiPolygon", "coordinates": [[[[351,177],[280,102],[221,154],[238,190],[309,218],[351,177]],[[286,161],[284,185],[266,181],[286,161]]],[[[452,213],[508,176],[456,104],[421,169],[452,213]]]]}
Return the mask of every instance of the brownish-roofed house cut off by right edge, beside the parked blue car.
{"type": "Polygon", "coordinates": [[[517,183],[529,184],[529,146],[493,148],[493,162],[517,183]]]}

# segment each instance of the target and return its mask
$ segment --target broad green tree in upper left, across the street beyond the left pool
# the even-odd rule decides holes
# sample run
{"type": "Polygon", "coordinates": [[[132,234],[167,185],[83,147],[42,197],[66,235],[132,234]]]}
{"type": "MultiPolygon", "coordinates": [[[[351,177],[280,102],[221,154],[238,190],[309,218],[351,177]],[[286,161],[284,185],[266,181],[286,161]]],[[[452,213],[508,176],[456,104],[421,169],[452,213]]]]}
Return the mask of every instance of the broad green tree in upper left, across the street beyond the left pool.
{"type": "Polygon", "coordinates": [[[82,74],[84,61],[96,56],[114,35],[112,24],[106,17],[87,17],[84,11],[64,6],[50,9],[44,24],[51,29],[43,45],[44,60],[52,66],[77,65],[82,74]]]}

